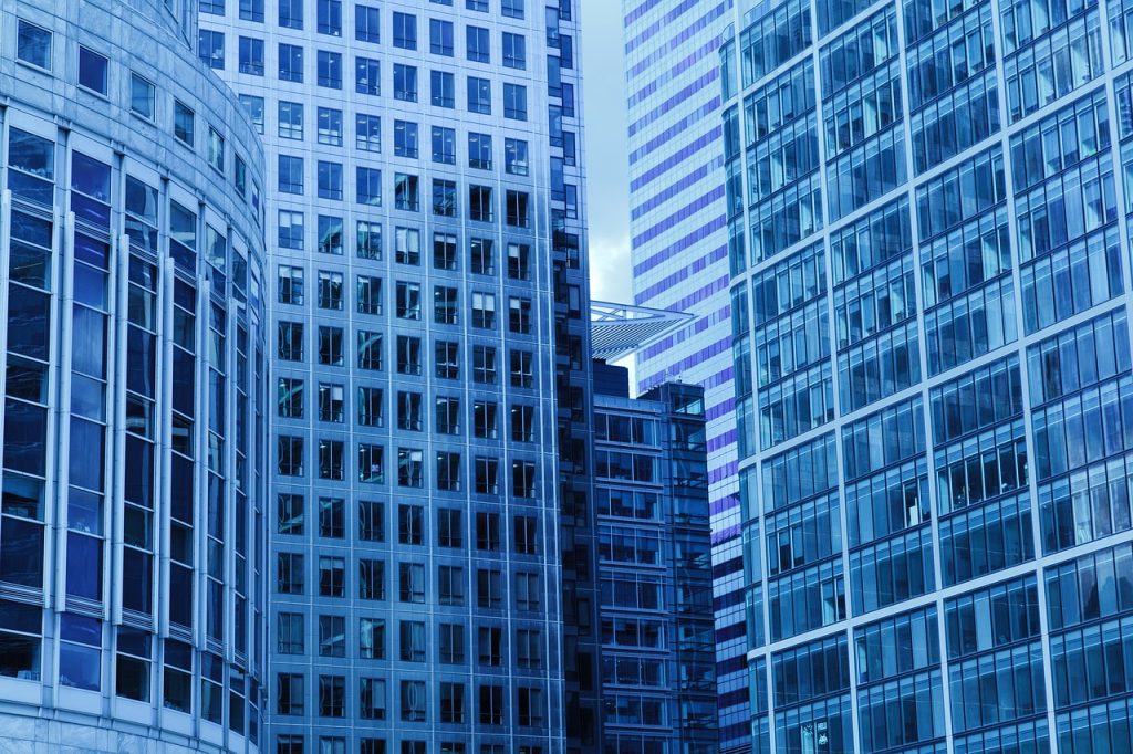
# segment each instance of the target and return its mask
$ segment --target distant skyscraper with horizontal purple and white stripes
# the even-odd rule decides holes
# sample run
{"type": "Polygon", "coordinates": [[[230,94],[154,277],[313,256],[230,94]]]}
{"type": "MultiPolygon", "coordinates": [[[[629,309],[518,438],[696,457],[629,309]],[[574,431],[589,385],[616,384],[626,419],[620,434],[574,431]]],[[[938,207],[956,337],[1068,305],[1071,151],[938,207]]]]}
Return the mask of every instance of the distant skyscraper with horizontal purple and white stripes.
{"type": "Polygon", "coordinates": [[[637,354],[638,386],[705,388],[721,745],[749,743],[719,37],[732,0],[622,0],[634,303],[688,311],[637,354]]]}

